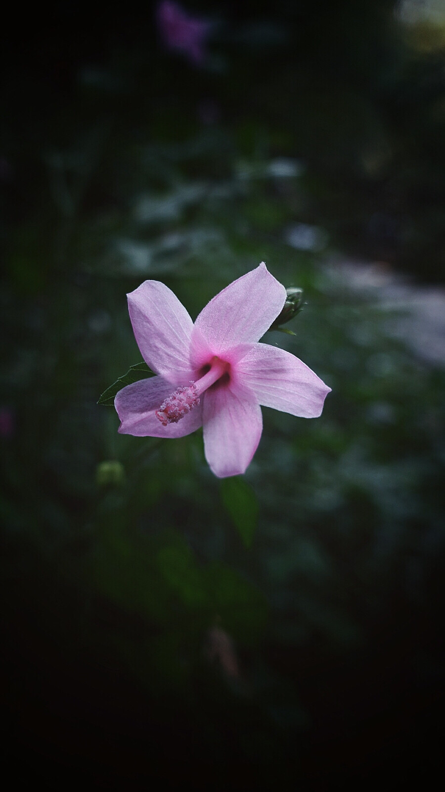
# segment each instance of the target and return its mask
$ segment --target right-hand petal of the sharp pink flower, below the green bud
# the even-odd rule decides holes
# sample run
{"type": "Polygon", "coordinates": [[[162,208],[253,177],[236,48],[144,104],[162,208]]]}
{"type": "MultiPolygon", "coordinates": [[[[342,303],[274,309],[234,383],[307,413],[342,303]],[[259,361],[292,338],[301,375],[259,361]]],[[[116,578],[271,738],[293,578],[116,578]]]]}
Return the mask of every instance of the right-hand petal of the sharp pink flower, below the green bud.
{"type": "Polygon", "coordinates": [[[331,390],[291,352],[257,344],[237,364],[238,379],[264,407],[302,418],[318,418],[331,390]]]}

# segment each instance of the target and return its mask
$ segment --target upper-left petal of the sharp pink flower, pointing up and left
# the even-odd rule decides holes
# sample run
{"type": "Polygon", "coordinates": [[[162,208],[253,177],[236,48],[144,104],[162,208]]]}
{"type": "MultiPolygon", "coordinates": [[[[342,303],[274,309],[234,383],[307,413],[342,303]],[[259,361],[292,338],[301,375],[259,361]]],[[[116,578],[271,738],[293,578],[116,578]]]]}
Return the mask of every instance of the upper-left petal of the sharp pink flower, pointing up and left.
{"type": "Polygon", "coordinates": [[[169,287],[146,280],[128,297],[135,339],[146,363],[177,385],[192,379],[189,363],[193,322],[169,287]]]}

